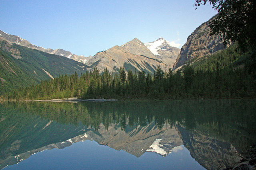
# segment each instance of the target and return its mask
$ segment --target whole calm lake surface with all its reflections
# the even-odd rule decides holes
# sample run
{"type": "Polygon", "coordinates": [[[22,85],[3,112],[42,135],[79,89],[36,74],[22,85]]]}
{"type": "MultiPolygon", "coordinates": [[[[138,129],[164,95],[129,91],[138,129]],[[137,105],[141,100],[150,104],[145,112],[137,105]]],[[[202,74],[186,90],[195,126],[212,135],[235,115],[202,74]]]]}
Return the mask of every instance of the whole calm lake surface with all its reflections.
{"type": "Polygon", "coordinates": [[[256,100],[2,102],[0,169],[216,169],[256,144],[256,100]]]}

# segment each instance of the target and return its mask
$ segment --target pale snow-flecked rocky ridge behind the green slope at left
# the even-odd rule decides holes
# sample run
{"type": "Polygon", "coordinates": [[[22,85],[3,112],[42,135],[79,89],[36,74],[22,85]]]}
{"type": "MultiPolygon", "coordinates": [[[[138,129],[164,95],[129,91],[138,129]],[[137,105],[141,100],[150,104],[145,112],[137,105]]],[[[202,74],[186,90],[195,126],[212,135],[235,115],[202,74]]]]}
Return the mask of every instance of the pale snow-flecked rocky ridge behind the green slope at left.
{"type": "Polygon", "coordinates": [[[2,41],[2,40],[5,40],[10,44],[15,43],[17,45],[28,47],[30,49],[36,49],[36,50],[39,50],[39,51],[43,51],[45,53],[64,56],[64,57],[67,57],[69,59],[73,59],[74,61],[78,61],[80,63],[85,63],[89,59],[89,57],[84,57],[83,55],[75,55],[75,54],[72,54],[69,51],[65,51],[63,49],[53,50],[53,49],[50,49],[50,48],[45,49],[43,47],[38,47],[36,45],[31,44],[30,42],[28,42],[25,39],[22,39],[22,38],[20,38],[16,35],[10,35],[8,33],[5,33],[4,31],[0,30],[0,41],[2,41]]]}

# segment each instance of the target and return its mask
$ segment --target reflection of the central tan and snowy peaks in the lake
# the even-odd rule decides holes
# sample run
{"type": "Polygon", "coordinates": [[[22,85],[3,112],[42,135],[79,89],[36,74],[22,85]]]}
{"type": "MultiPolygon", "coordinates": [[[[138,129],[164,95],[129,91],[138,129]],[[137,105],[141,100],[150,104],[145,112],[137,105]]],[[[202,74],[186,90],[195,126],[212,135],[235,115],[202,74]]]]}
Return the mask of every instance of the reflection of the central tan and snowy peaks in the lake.
{"type": "Polygon", "coordinates": [[[144,127],[140,125],[137,127],[127,126],[125,131],[122,131],[120,125],[112,125],[108,131],[101,125],[98,133],[94,131],[87,131],[86,133],[101,145],[108,145],[116,150],[124,150],[137,157],[148,151],[154,141],[161,140],[157,147],[164,146],[161,146],[162,152],[159,152],[162,156],[170,153],[172,148],[182,145],[176,129],[170,128],[168,125],[159,129],[154,122],[144,127]]]}

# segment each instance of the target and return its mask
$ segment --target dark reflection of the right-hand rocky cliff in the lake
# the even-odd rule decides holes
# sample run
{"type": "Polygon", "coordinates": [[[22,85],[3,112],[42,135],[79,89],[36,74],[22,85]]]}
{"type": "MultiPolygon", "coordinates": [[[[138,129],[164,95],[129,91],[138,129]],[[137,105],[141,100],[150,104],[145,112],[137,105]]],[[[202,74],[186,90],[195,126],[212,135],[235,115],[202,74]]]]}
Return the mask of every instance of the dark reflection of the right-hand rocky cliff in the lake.
{"type": "Polygon", "coordinates": [[[206,169],[217,169],[220,164],[222,169],[232,167],[241,159],[236,148],[230,143],[198,131],[186,131],[180,126],[176,126],[176,129],[191,156],[206,169]]]}

